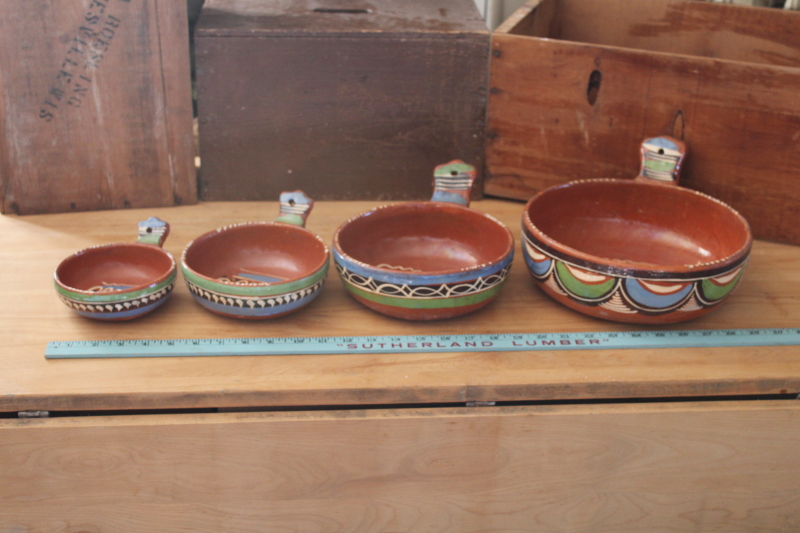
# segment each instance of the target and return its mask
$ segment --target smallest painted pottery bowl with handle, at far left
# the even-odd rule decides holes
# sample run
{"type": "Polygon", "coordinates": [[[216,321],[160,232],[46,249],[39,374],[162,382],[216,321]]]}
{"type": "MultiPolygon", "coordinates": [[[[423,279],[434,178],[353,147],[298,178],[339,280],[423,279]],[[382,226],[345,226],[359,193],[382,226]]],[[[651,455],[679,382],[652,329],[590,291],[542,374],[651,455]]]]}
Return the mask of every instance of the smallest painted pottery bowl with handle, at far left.
{"type": "Polygon", "coordinates": [[[177,268],[161,249],[169,224],[157,218],[139,223],[139,240],[93,246],[56,268],[61,301],[85,317],[131,320],[162,305],[175,286],[177,268]]]}

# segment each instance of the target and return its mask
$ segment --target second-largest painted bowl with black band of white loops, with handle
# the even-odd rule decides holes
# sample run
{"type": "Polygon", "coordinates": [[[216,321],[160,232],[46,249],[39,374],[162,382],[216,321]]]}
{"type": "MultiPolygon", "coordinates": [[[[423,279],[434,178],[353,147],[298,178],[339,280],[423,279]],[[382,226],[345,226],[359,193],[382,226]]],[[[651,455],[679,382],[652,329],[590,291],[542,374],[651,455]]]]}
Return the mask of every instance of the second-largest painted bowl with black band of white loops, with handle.
{"type": "Polygon", "coordinates": [[[493,217],[469,209],[475,169],[436,167],[430,202],[379,207],[336,231],[333,257],[350,294],[407,320],[451,318],[497,295],[514,257],[514,238],[493,217]]]}

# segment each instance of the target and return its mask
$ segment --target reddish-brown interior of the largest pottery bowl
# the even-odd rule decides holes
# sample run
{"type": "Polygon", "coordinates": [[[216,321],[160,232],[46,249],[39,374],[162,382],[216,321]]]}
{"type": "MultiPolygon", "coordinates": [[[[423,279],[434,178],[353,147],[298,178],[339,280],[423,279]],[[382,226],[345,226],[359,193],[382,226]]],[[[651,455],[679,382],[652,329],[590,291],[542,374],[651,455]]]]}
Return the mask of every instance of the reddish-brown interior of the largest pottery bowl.
{"type": "Polygon", "coordinates": [[[584,181],[548,189],[527,214],[557,243],[595,258],[661,267],[728,258],[750,241],[731,208],[687,189],[633,181],[584,181]]]}

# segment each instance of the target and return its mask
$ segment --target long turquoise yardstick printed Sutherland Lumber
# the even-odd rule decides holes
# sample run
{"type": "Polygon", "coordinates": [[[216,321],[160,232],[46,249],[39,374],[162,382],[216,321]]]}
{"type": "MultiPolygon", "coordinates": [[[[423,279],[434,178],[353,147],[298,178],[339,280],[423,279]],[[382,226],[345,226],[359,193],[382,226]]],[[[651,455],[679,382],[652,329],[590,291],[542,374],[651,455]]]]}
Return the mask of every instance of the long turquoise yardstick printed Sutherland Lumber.
{"type": "Polygon", "coordinates": [[[800,328],[55,341],[47,359],[524,352],[800,345],[800,328]]]}

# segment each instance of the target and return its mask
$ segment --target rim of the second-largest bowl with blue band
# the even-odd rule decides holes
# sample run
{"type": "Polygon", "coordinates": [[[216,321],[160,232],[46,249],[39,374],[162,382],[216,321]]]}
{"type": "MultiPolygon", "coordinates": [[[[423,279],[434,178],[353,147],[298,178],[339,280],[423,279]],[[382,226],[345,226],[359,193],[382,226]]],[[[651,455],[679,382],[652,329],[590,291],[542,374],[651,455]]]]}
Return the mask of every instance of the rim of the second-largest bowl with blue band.
{"type": "Polygon", "coordinates": [[[338,259],[338,257],[337,257],[337,255],[338,255],[338,256],[341,256],[342,259],[344,259],[344,260],[346,260],[348,262],[356,264],[356,265],[358,265],[359,267],[361,267],[361,268],[363,268],[365,270],[376,272],[376,273],[382,273],[382,274],[386,274],[386,275],[390,275],[390,276],[403,276],[403,277],[408,277],[408,278],[411,278],[411,279],[413,279],[413,278],[422,278],[422,277],[426,277],[426,276],[457,276],[457,275],[465,274],[465,273],[468,273],[468,272],[477,272],[477,271],[489,268],[489,267],[491,267],[493,265],[499,265],[499,264],[503,263],[504,261],[506,261],[508,259],[509,255],[513,255],[513,253],[514,253],[514,235],[511,233],[511,230],[508,229],[508,226],[506,226],[505,224],[503,224],[502,222],[497,220],[492,215],[490,215],[488,213],[484,213],[482,211],[478,211],[477,209],[472,209],[470,207],[465,207],[465,206],[462,206],[462,205],[449,203],[449,202],[433,202],[433,201],[406,202],[406,203],[401,203],[401,204],[387,204],[387,205],[381,205],[381,206],[378,206],[378,207],[373,207],[372,209],[364,211],[363,213],[359,213],[358,215],[355,215],[353,217],[348,218],[347,220],[342,222],[339,225],[338,228],[336,228],[336,231],[333,234],[333,249],[334,249],[334,252],[335,252],[334,253],[334,259],[338,259]],[[401,210],[401,209],[414,209],[414,208],[419,208],[419,207],[422,207],[423,209],[440,209],[440,208],[453,209],[453,210],[455,210],[457,212],[470,213],[469,216],[481,216],[481,217],[489,220],[490,222],[496,224],[497,227],[502,228],[505,231],[506,235],[508,236],[508,247],[505,250],[505,252],[500,257],[496,258],[494,261],[483,262],[483,263],[480,263],[480,264],[477,264],[477,265],[473,265],[473,266],[469,266],[469,267],[462,267],[462,268],[458,268],[458,269],[426,270],[426,271],[423,271],[423,272],[414,272],[414,271],[408,271],[408,270],[397,270],[397,269],[385,268],[385,267],[380,267],[380,266],[377,266],[377,265],[372,265],[370,263],[366,263],[364,261],[356,259],[355,257],[351,256],[350,254],[348,254],[347,252],[345,252],[342,249],[341,243],[339,242],[339,235],[341,234],[341,232],[343,230],[345,230],[350,224],[352,224],[356,220],[360,220],[362,218],[365,218],[365,217],[368,217],[368,216],[372,216],[373,214],[375,214],[375,213],[377,213],[379,211],[394,211],[394,210],[401,210]]]}

